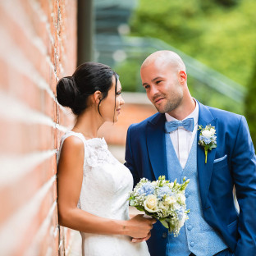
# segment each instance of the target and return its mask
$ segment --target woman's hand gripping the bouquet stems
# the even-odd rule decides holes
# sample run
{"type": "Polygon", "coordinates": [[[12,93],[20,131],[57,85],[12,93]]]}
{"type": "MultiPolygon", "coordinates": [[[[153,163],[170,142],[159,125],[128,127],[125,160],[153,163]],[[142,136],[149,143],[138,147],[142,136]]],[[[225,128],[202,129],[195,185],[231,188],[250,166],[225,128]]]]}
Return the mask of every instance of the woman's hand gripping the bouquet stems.
{"type": "Polygon", "coordinates": [[[153,218],[146,218],[144,214],[138,214],[127,221],[124,229],[126,230],[126,235],[133,238],[146,239],[150,237],[150,230],[155,222],[157,221],[153,218]]]}

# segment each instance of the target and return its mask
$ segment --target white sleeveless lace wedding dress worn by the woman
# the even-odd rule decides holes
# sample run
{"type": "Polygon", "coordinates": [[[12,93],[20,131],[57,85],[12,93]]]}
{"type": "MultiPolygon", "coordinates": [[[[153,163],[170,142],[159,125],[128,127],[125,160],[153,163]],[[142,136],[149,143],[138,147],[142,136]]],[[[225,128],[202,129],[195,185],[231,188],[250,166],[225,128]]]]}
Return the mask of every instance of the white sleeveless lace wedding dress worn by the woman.
{"type": "MultiPolygon", "coordinates": [[[[107,149],[105,139],[85,139],[68,131],[61,140],[75,135],[85,144],[84,176],[77,207],[100,217],[129,219],[128,194],[133,178],[128,168],[107,149]]],[[[58,158],[57,158],[58,161],[58,158]]],[[[146,242],[131,243],[126,235],[95,235],[80,232],[83,256],[149,256],[146,242]]]]}

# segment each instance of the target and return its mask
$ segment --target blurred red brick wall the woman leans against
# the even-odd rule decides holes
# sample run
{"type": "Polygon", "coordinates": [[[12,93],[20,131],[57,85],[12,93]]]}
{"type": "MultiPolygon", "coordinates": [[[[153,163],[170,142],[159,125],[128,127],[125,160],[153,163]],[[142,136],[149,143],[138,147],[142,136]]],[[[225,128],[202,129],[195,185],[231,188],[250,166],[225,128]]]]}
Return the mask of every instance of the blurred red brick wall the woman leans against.
{"type": "Polygon", "coordinates": [[[75,0],[0,1],[0,254],[67,255],[56,153],[73,117],[56,83],[76,63],[75,0]]]}

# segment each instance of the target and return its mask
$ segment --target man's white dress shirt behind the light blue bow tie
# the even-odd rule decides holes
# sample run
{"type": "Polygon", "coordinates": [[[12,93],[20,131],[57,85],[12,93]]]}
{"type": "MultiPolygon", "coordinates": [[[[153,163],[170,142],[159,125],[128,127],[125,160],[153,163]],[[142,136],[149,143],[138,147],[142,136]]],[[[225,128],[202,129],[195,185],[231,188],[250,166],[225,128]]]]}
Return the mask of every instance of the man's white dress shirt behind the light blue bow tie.
{"type": "MultiPolygon", "coordinates": [[[[171,143],[173,148],[175,149],[176,156],[180,160],[181,167],[184,169],[185,163],[187,162],[190,154],[190,149],[192,147],[194,136],[198,130],[198,122],[199,122],[199,104],[194,99],[195,107],[194,111],[190,113],[188,117],[185,117],[183,120],[187,118],[194,118],[194,130],[191,132],[190,130],[185,130],[183,127],[178,127],[177,130],[173,130],[170,132],[171,143]]],[[[167,121],[177,121],[176,118],[171,117],[169,114],[165,113],[167,121]]]]}

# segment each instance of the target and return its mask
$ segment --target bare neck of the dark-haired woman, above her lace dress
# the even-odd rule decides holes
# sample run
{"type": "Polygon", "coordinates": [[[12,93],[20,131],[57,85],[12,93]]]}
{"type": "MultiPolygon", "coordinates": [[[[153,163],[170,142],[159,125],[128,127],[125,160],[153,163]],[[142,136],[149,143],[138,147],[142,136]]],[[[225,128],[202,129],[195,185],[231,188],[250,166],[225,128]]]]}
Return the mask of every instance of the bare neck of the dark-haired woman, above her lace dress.
{"type": "Polygon", "coordinates": [[[75,132],[80,132],[86,139],[96,138],[98,129],[103,125],[103,118],[95,112],[94,109],[88,109],[81,113],[75,121],[75,126],[72,129],[75,132]]]}

